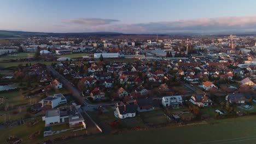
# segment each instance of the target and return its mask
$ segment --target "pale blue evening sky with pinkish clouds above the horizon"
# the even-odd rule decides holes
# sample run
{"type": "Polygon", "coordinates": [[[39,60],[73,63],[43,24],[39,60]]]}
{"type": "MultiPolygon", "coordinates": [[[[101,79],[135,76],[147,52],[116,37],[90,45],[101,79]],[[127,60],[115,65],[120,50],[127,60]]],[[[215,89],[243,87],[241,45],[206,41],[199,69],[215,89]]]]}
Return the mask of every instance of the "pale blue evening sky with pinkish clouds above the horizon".
{"type": "Polygon", "coordinates": [[[255,0],[0,0],[0,29],[28,32],[256,32],[255,0]]]}

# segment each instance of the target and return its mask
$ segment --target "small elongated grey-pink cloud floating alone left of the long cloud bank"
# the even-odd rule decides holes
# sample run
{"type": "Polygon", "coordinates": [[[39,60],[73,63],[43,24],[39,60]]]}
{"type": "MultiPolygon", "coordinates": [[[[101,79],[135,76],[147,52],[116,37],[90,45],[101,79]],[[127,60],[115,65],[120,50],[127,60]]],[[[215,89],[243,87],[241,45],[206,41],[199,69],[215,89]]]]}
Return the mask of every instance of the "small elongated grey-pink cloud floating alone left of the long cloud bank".
{"type": "Polygon", "coordinates": [[[119,20],[113,20],[113,19],[78,18],[78,19],[66,20],[65,23],[95,26],[95,25],[108,25],[112,22],[118,22],[118,21],[119,20]]]}

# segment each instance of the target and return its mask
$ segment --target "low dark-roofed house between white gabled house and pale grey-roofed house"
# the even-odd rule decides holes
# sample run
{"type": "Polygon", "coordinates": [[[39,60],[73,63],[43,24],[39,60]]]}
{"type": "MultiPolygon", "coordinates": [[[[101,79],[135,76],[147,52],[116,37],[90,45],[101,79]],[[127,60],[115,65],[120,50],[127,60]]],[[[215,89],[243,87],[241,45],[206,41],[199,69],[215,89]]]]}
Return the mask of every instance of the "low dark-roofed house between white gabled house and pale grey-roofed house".
{"type": "Polygon", "coordinates": [[[138,112],[160,109],[158,100],[138,99],[138,100],[135,100],[135,104],[137,104],[138,112]]]}

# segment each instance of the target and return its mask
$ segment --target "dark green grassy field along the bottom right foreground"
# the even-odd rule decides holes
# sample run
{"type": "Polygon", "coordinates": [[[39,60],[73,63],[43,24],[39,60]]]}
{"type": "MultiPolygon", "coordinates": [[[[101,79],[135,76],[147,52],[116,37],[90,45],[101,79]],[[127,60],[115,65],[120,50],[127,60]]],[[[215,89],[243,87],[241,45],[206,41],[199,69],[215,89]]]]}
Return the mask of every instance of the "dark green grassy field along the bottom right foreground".
{"type": "Polygon", "coordinates": [[[94,136],[67,143],[255,143],[256,116],[208,121],[209,124],[165,127],[146,131],[126,131],[117,135],[94,136]],[[213,122],[213,123],[212,123],[213,122]]]}

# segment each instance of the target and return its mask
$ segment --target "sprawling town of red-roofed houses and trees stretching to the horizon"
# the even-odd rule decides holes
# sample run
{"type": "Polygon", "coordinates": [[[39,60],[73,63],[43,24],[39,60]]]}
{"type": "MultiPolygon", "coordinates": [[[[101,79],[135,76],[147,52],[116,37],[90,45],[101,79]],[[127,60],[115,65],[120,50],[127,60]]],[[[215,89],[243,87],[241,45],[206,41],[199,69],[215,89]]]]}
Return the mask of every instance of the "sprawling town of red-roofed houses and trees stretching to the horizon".
{"type": "Polygon", "coordinates": [[[0,40],[0,141],[62,143],[163,128],[214,129],[232,119],[253,125],[255,54],[256,35],[249,34],[0,40]]]}

